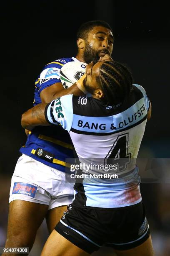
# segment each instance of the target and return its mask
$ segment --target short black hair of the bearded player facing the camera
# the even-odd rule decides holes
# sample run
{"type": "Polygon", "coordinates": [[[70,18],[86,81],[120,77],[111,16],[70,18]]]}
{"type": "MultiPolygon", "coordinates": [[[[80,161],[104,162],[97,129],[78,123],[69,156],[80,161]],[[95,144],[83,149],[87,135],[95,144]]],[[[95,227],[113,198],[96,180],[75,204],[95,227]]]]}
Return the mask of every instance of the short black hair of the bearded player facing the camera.
{"type": "Polygon", "coordinates": [[[86,23],[83,23],[80,26],[80,28],[77,31],[77,39],[82,38],[82,39],[86,40],[87,34],[89,33],[89,31],[91,31],[96,26],[102,26],[102,27],[108,28],[110,31],[112,31],[112,28],[110,27],[110,25],[108,23],[106,23],[105,21],[91,20],[91,21],[87,21],[86,23]]]}

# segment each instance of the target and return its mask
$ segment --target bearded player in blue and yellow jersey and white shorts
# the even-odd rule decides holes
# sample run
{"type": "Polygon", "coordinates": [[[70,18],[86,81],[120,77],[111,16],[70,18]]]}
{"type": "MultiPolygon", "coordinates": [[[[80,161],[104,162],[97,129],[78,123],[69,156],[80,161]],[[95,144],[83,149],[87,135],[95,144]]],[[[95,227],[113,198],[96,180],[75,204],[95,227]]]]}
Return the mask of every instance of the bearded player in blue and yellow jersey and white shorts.
{"type": "MultiPolygon", "coordinates": [[[[112,29],[103,21],[82,24],[77,31],[77,48],[75,57],[57,59],[42,69],[35,82],[34,105],[51,102],[69,92],[82,95],[77,87],[64,89],[60,69],[70,61],[111,60],[112,29]]],[[[23,155],[12,177],[5,247],[29,247],[31,250],[43,219],[46,218],[51,232],[67,209],[66,205],[72,202],[73,184],[65,184],[65,158],[73,157],[72,145],[67,132],[61,126],[57,130],[54,134],[52,126],[35,128],[20,149],[23,155]]]]}

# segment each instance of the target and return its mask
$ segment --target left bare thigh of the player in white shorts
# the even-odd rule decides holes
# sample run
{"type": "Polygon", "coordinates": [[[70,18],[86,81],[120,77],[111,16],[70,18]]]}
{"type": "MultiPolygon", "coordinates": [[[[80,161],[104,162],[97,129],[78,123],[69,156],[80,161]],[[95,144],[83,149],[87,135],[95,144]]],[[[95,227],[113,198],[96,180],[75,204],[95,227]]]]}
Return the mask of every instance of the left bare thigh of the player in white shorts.
{"type": "Polygon", "coordinates": [[[48,205],[24,200],[10,202],[6,246],[32,246],[48,205]]]}

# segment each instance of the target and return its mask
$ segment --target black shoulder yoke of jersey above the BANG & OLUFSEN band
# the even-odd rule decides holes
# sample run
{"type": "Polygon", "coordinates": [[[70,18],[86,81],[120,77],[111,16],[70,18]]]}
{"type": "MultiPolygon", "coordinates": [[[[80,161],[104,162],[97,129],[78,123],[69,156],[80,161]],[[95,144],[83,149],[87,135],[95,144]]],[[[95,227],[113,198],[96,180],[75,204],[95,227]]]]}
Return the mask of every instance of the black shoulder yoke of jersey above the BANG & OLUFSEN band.
{"type": "Polygon", "coordinates": [[[133,106],[136,102],[143,98],[143,93],[140,89],[133,85],[133,90],[126,102],[123,105],[120,102],[116,106],[107,106],[105,102],[102,100],[95,99],[93,97],[87,97],[87,102],[83,102],[81,104],[81,99],[83,97],[73,96],[72,97],[72,107],[73,113],[75,115],[82,115],[82,116],[94,116],[94,117],[102,117],[102,116],[110,116],[116,115],[121,113],[131,106],[133,106]],[[111,108],[108,108],[111,107],[111,108]],[[90,113],[90,115],[89,115],[90,113]]]}

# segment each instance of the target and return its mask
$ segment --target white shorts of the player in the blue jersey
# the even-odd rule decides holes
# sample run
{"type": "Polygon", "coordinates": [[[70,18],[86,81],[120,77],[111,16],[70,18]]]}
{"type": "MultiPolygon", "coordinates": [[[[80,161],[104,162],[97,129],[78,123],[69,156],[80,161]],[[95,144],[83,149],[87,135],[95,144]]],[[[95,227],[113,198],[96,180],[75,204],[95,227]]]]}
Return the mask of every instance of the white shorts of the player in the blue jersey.
{"type": "Polygon", "coordinates": [[[65,173],[23,154],[11,180],[10,200],[25,200],[49,205],[48,210],[69,205],[73,184],[65,183],[65,173]]]}

